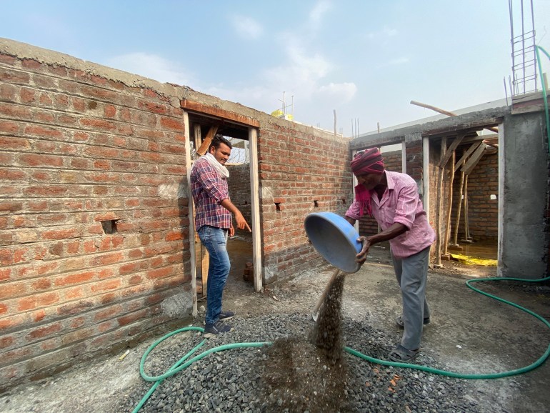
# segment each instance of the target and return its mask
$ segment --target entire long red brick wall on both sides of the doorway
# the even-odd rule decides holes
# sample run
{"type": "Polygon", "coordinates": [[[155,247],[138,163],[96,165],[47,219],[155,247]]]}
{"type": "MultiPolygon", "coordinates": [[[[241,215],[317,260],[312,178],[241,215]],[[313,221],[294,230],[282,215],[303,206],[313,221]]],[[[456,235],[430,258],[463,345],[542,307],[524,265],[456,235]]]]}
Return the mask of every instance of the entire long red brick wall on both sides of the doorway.
{"type": "Polygon", "coordinates": [[[0,39],[0,391],[189,321],[181,101],[259,125],[264,284],[326,265],[304,219],[349,206],[349,139],[0,39]]]}

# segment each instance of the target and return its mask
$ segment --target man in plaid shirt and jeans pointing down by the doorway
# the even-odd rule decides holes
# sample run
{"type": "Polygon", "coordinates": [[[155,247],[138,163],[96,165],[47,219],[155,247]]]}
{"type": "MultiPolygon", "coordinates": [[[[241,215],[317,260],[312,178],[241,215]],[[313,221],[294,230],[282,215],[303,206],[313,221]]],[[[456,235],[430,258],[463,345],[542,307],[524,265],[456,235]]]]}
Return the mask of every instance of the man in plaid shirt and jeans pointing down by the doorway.
{"type": "Polygon", "coordinates": [[[231,142],[223,136],[215,136],[206,154],[197,159],[191,168],[195,229],[210,256],[204,320],[206,338],[233,329],[224,320],[233,318],[235,314],[221,311],[221,297],[231,269],[227,237],[235,234],[231,214],[235,216],[237,228],[251,231],[243,214],[229,199],[229,171],[225,164],[231,155],[231,148],[231,142]]]}

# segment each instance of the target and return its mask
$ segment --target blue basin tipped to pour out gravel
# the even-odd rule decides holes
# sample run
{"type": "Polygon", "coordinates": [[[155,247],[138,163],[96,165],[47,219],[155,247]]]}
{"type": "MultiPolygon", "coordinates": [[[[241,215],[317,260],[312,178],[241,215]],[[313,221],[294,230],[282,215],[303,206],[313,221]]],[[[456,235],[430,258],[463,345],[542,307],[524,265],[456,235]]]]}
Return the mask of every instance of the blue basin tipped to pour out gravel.
{"type": "Polygon", "coordinates": [[[326,261],[344,272],[357,272],[361,267],[355,256],[361,252],[361,242],[353,225],[334,212],[314,212],[304,220],[311,244],[326,261]]]}

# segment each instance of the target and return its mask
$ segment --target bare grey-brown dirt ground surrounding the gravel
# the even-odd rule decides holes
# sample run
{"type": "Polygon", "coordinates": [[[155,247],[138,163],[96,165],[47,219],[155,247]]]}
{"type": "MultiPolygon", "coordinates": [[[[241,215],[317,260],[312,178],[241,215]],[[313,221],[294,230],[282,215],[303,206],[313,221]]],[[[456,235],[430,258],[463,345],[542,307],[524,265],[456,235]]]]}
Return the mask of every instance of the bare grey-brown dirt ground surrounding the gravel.
{"type": "MultiPolygon", "coordinates": [[[[268,313],[311,314],[334,269],[311,269],[256,293],[242,278],[244,264],[250,261],[242,254],[248,251],[247,244],[247,240],[239,238],[229,244],[233,270],[224,293],[224,308],[243,318],[268,313]]],[[[495,267],[457,262],[444,262],[443,269],[429,272],[431,324],[424,329],[422,351],[449,371],[475,374],[520,369],[536,362],[549,349],[550,329],[540,320],[477,294],[465,284],[469,279],[495,276],[495,267]]],[[[474,286],[550,320],[548,284],[482,282],[474,286]]],[[[202,304],[199,301],[199,306],[202,304]]],[[[343,317],[366,316],[372,327],[391,332],[399,341],[401,331],[394,319],[400,311],[401,299],[389,251],[386,247],[373,247],[359,272],[346,275],[343,317]]],[[[184,322],[182,327],[193,320],[184,322]]],[[[195,320],[194,324],[200,322],[195,320]]],[[[139,361],[154,341],[130,349],[122,360],[119,355],[98,359],[42,382],[11,389],[0,395],[0,411],[112,412],[116,400],[141,381],[139,361]]],[[[543,412],[550,404],[548,361],[525,374],[471,382],[476,389],[471,398],[479,403],[482,412],[543,412]]]]}

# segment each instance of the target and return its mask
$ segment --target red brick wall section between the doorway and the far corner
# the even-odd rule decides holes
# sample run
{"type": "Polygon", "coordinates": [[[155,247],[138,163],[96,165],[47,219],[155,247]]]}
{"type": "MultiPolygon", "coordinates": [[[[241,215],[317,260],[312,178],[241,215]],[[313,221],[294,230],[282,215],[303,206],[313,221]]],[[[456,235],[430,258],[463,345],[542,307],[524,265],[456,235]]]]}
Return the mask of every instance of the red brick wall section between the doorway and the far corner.
{"type": "Polygon", "coordinates": [[[324,262],[308,243],[311,212],[341,216],[351,202],[349,141],[304,126],[261,124],[259,141],[264,282],[324,262]]]}

